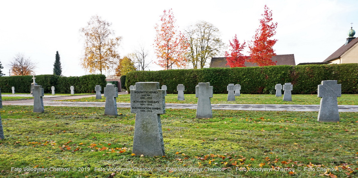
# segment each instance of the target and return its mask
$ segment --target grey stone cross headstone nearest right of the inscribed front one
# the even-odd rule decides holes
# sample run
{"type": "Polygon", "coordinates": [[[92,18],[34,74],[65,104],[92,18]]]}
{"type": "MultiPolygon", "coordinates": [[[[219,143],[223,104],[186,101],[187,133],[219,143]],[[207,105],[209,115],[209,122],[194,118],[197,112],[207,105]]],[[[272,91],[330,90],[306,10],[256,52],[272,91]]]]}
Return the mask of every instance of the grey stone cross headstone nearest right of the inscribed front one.
{"type": "Polygon", "coordinates": [[[198,98],[196,118],[212,118],[210,98],[213,98],[213,86],[210,83],[199,83],[195,86],[195,97],[198,98]]]}

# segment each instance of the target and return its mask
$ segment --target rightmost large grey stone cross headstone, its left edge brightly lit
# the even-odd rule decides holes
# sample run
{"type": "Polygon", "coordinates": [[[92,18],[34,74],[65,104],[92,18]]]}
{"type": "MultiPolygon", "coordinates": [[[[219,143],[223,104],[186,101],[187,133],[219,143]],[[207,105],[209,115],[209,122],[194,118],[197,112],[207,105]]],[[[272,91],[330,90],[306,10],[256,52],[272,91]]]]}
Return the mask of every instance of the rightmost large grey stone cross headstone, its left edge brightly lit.
{"type": "Polygon", "coordinates": [[[324,80],[318,85],[318,97],[321,97],[318,121],[339,122],[337,97],[341,96],[341,84],[337,80],[324,80]]]}

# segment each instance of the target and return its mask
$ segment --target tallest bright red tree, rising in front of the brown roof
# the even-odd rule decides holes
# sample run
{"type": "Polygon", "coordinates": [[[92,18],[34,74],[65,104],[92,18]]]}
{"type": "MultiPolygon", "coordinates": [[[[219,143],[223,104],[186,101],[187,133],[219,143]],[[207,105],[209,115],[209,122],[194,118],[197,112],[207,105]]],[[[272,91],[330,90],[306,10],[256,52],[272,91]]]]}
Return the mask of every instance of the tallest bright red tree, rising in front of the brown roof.
{"type": "Polygon", "coordinates": [[[260,19],[260,27],[256,30],[256,34],[249,45],[250,59],[248,62],[256,63],[258,66],[276,65],[277,61],[272,61],[272,56],[275,56],[275,50],[272,46],[275,45],[276,39],[270,39],[276,34],[277,22],[272,21],[272,11],[265,5],[265,11],[262,19],[260,19]]]}

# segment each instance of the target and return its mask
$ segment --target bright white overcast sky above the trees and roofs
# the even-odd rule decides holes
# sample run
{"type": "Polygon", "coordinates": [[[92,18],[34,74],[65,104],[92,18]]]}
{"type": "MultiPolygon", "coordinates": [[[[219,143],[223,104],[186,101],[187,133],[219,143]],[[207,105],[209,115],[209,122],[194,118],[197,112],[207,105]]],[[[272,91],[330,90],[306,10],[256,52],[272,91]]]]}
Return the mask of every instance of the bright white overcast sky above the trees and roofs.
{"type": "MultiPolygon", "coordinates": [[[[9,76],[8,64],[15,54],[24,53],[38,63],[36,75],[52,74],[59,51],[64,76],[89,74],[79,64],[83,54],[79,29],[96,14],[122,36],[121,56],[142,43],[156,60],[154,26],[165,9],[173,9],[181,31],[204,20],[221,31],[226,44],[235,34],[240,42],[248,41],[260,25],[265,4],[278,23],[276,54],[295,54],[296,64],[325,60],[345,43],[350,23],[358,31],[357,0],[1,1],[0,62],[9,76]]],[[[156,64],[149,69],[161,70],[156,64]]]]}

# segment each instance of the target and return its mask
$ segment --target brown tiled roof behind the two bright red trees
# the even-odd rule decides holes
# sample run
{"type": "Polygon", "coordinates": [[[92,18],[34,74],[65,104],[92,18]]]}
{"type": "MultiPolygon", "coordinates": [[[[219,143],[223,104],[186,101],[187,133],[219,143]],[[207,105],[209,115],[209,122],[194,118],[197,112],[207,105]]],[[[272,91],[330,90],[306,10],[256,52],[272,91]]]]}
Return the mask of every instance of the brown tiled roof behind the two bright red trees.
{"type": "MultiPolygon", "coordinates": [[[[282,55],[272,56],[271,60],[277,61],[276,65],[296,65],[294,54],[282,54],[282,55]]],[[[211,63],[210,63],[209,68],[230,67],[229,65],[226,65],[226,63],[227,63],[227,61],[226,61],[225,57],[211,58],[211,63]]],[[[258,66],[258,65],[245,61],[245,66],[253,67],[253,66],[258,66]]]]}

